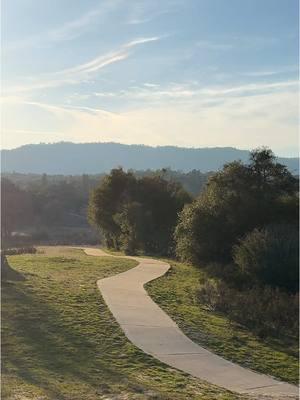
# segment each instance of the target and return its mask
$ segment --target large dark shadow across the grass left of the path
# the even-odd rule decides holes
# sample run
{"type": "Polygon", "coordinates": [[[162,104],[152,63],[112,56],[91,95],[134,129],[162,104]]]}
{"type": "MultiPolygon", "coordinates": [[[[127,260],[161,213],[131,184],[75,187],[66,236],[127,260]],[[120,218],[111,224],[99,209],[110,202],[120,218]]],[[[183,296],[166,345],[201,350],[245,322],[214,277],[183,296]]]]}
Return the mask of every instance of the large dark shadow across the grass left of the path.
{"type": "Polygon", "coordinates": [[[55,399],[70,398],[59,388],[64,377],[81,381],[95,390],[105,382],[120,384],[125,381],[126,375],[111,367],[105,359],[107,355],[98,345],[99,338],[90,340],[88,334],[82,335],[72,329],[68,315],[58,315],[28,286],[21,282],[5,284],[2,308],[4,373],[13,371],[14,375],[44,389],[55,399]],[[16,336],[11,337],[6,332],[16,336]],[[102,359],[99,358],[101,351],[102,359]]]}

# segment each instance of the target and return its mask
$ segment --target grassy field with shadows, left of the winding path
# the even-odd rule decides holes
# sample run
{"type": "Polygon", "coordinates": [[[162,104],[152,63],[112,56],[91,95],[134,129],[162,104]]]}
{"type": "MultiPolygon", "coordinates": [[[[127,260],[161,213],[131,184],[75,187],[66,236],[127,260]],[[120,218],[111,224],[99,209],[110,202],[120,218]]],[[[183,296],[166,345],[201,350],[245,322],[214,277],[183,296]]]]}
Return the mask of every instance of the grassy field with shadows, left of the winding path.
{"type": "Polygon", "coordinates": [[[8,261],[16,274],[2,284],[2,399],[246,398],[169,368],[126,339],[96,280],[134,261],[67,248],[8,261]]]}

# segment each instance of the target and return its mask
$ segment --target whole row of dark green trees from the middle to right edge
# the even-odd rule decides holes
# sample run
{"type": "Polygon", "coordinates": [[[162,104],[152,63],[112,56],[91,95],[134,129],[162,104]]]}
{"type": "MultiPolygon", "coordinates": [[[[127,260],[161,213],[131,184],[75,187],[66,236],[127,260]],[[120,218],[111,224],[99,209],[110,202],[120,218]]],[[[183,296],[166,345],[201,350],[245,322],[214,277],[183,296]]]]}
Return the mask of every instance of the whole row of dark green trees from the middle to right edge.
{"type": "Polygon", "coordinates": [[[297,290],[298,179],[271,150],[224,165],[194,199],[161,172],[114,169],[94,190],[89,220],[108,247],[230,264],[238,279],[297,290]]]}

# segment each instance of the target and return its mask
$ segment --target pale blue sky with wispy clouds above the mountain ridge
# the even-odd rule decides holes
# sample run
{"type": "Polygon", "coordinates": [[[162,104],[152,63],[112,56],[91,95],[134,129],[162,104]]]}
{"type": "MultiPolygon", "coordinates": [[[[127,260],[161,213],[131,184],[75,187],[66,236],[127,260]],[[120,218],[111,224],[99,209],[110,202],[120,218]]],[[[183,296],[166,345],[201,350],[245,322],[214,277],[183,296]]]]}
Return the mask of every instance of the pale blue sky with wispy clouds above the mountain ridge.
{"type": "Polygon", "coordinates": [[[298,155],[298,0],[2,0],[2,148],[298,155]]]}

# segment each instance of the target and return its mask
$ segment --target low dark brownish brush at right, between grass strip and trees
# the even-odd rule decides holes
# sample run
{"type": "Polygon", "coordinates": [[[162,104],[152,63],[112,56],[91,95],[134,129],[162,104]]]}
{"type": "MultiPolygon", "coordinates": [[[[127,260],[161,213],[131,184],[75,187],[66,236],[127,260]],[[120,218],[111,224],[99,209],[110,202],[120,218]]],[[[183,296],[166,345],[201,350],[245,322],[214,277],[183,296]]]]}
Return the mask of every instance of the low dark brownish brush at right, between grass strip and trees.
{"type": "Polygon", "coordinates": [[[298,335],[298,296],[278,288],[255,286],[241,292],[208,280],[200,286],[197,300],[260,337],[298,335]]]}

